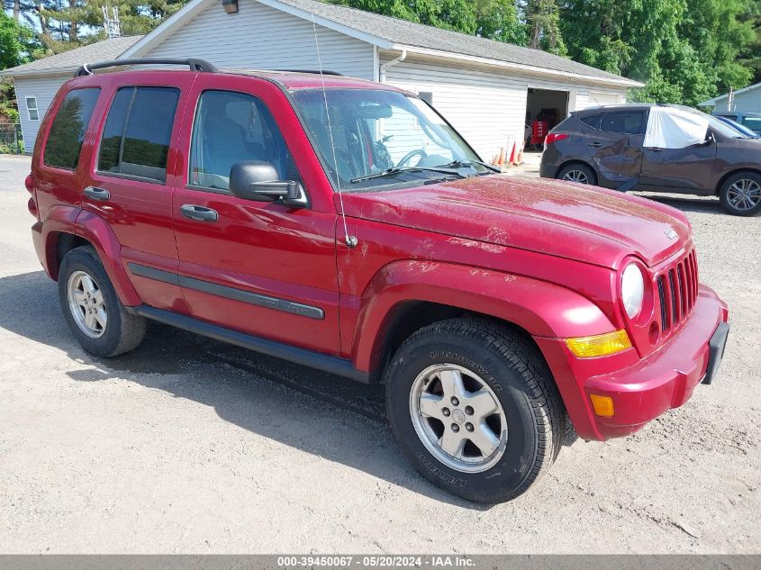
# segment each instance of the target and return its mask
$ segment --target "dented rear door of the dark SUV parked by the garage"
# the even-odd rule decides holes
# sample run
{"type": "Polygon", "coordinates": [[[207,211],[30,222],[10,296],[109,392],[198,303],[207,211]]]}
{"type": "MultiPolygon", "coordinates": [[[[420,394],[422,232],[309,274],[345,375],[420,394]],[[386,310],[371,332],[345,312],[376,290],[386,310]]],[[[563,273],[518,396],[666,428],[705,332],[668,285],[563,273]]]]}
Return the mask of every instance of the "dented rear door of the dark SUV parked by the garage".
{"type": "Polygon", "coordinates": [[[639,176],[646,120],[641,110],[609,111],[584,120],[591,127],[584,141],[593,166],[613,188],[639,176]]]}

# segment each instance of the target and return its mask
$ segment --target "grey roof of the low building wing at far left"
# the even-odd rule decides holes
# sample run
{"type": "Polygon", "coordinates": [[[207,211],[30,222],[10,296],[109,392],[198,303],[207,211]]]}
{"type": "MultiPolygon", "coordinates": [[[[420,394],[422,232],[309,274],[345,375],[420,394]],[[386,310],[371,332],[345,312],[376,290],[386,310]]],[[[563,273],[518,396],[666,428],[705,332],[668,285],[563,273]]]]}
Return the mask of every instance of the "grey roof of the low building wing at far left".
{"type": "Polygon", "coordinates": [[[35,75],[52,75],[73,73],[85,63],[116,59],[124,50],[131,48],[142,36],[122,36],[96,41],[76,50],[68,50],[47,58],[37,59],[30,63],[3,69],[0,76],[27,77],[35,75]]]}

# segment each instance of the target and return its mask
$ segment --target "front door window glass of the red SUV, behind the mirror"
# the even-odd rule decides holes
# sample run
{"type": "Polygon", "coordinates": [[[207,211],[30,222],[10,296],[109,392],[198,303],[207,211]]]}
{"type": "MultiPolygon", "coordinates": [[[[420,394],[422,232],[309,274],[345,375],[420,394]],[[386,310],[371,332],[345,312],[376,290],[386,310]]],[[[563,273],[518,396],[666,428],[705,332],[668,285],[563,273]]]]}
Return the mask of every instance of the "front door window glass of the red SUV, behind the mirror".
{"type": "Polygon", "coordinates": [[[265,104],[242,93],[204,91],[193,124],[189,183],[227,190],[232,165],[247,160],[268,162],[280,180],[299,180],[283,135],[265,104]]]}

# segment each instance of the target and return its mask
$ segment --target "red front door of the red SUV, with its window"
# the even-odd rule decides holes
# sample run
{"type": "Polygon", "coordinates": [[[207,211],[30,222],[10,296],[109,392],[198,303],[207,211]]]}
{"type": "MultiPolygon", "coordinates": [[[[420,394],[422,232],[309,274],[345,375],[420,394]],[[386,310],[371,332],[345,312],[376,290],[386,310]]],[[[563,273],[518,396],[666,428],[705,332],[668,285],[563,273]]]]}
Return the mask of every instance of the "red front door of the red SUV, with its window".
{"type": "Polygon", "coordinates": [[[193,315],[338,353],[337,216],[334,207],[309,204],[299,168],[305,153],[289,149],[283,134],[294,137],[285,95],[263,80],[217,74],[199,75],[193,91],[195,113],[182,136],[185,179],[172,204],[179,279],[193,315]],[[250,160],[302,185],[306,207],[232,195],[232,165],[250,160]]]}

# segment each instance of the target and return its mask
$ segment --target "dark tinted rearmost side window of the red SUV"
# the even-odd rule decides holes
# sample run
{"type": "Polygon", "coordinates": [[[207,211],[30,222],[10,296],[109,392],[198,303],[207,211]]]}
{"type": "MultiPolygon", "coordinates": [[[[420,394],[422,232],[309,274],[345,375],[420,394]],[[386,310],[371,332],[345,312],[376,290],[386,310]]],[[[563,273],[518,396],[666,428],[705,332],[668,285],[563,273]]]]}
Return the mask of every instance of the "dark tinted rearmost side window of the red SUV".
{"type": "Polygon", "coordinates": [[[45,142],[43,156],[46,165],[77,169],[79,151],[99,94],[97,88],[75,89],[63,98],[45,142]]]}

